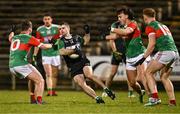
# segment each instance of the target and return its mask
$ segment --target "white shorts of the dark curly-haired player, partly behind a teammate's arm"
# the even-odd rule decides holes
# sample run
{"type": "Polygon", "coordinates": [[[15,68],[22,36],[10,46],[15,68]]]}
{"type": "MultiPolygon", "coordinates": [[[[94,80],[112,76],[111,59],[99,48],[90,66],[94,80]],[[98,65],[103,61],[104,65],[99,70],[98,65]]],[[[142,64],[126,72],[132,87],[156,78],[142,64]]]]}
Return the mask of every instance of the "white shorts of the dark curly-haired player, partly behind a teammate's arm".
{"type": "MultiPolygon", "coordinates": [[[[136,66],[134,66],[134,64],[141,59],[144,56],[144,53],[133,57],[133,58],[126,58],[126,69],[127,70],[136,70],[136,66]]],[[[148,64],[148,62],[150,61],[150,56],[146,58],[146,60],[143,62],[143,64],[145,65],[145,68],[148,64]]]]}

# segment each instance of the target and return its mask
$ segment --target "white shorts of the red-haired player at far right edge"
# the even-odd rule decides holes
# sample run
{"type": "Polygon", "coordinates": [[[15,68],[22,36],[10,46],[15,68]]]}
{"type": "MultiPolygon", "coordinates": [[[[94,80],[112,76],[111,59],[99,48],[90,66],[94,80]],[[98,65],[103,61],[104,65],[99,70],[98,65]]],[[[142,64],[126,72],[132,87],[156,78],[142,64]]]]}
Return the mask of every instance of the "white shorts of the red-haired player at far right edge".
{"type": "Polygon", "coordinates": [[[158,51],[153,59],[159,63],[174,67],[175,61],[179,58],[179,53],[175,51],[158,51]]]}

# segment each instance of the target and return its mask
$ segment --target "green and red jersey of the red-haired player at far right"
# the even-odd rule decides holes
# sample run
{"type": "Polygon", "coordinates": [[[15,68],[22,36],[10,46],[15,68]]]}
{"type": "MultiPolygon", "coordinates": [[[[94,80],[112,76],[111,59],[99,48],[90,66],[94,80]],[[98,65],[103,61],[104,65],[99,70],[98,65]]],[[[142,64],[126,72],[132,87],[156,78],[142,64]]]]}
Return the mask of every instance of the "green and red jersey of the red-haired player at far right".
{"type": "Polygon", "coordinates": [[[146,34],[155,34],[157,51],[177,51],[174,39],[168,27],[158,21],[152,21],[146,27],[146,34]]]}

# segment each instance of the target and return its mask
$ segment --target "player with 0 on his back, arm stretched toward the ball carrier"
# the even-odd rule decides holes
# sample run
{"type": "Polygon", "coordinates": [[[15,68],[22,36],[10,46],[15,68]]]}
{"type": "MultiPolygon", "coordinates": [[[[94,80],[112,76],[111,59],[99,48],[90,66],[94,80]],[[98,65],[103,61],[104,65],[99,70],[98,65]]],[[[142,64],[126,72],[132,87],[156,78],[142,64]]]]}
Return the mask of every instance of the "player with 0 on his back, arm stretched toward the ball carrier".
{"type": "Polygon", "coordinates": [[[20,79],[27,78],[30,80],[30,84],[34,84],[35,89],[30,93],[31,103],[42,104],[44,79],[36,68],[28,63],[27,53],[32,46],[48,49],[52,45],[40,43],[35,37],[29,35],[31,32],[32,23],[25,20],[21,24],[21,33],[19,35],[14,36],[13,32],[9,35],[11,42],[9,68],[12,75],[20,79]]]}

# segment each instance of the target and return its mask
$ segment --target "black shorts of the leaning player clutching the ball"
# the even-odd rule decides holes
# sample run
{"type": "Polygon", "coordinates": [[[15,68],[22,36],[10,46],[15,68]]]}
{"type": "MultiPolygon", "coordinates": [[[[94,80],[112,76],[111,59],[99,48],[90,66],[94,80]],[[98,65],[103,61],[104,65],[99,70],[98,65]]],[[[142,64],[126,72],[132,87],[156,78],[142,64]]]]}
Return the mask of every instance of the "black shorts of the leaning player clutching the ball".
{"type": "Polygon", "coordinates": [[[83,72],[84,66],[90,66],[90,61],[87,58],[73,64],[70,67],[71,77],[73,78],[78,74],[84,74],[83,72]]]}

